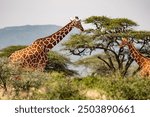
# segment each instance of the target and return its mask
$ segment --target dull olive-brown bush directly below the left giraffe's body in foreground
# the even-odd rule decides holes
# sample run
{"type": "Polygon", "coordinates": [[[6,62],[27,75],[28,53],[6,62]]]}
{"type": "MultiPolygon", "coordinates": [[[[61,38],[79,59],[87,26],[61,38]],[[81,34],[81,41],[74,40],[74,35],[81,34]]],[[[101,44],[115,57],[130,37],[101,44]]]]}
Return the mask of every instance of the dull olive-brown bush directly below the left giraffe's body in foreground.
{"type": "Polygon", "coordinates": [[[13,99],[30,99],[34,91],[43,86],[48,75],[40,71],[23,71],[20,75],[11,80],[15,95],[13,99]]]}

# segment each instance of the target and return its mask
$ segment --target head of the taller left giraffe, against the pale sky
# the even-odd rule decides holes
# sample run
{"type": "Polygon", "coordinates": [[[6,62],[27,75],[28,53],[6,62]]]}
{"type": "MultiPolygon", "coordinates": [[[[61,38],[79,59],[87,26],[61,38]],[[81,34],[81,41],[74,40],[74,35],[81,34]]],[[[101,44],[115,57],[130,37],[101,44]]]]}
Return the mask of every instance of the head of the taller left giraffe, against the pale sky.
{"type": "Polygon", "coordinates": [[[71,18],[70,20],[74,27],[80,29],[81,31],[84,31],[84,28],[82,27],[82,24],[81,24],[81,20],[77,16],[75,16],[74,18],[71,18]]]}

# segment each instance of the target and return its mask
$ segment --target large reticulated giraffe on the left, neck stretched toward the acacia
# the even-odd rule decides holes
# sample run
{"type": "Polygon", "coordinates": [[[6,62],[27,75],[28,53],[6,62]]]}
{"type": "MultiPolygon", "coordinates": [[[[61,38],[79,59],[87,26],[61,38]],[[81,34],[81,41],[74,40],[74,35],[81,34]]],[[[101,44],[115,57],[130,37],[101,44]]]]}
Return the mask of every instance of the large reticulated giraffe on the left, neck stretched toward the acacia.
{"type": "Polygon", "coordinates": [[[47,54],[58,44],[74,27],[84,31],[81,20],[76,16],[54,34],[35,40],[28,47],[15,51],[9,57],[10,63],[18,63],[22,67],[44,70],[48,62],[47,54]]]}

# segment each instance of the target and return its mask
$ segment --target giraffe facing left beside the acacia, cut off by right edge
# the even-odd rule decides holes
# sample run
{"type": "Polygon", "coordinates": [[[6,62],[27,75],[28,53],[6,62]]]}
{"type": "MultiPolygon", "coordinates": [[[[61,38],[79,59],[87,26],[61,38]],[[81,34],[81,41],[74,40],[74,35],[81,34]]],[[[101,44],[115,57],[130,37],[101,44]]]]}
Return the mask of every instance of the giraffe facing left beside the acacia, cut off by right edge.
{"type": "Polygon", "coordinates": [[[120,47],[124,47],[124,46],[128,46],[133,59],[139,65],[141,77],[149,77],[150,76],[150,58],[143,56],[135,48],[133,43],[128,41],[128,39],[126,38],[122,38],[122,43],[120,44],[120,47]]]}

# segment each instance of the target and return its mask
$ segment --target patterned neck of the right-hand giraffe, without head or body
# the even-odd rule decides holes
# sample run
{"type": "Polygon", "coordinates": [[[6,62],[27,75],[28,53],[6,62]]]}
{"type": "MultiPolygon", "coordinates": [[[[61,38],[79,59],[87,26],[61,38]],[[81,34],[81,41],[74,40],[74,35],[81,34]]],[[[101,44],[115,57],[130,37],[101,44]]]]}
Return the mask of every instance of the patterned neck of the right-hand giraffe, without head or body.
{"type": "Polygon", "coordinates": [[[142,67],[142,63],[144,63],[145,57],[135,48],[135,46],[131,42],[129,42],[128,48],[134,60],[140,67],[142,67]]]}

